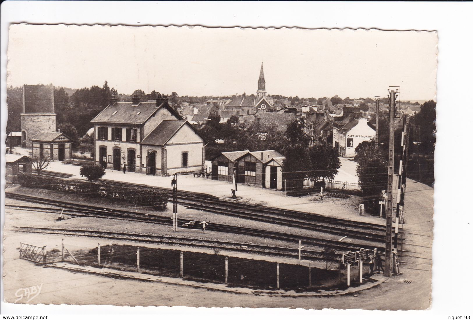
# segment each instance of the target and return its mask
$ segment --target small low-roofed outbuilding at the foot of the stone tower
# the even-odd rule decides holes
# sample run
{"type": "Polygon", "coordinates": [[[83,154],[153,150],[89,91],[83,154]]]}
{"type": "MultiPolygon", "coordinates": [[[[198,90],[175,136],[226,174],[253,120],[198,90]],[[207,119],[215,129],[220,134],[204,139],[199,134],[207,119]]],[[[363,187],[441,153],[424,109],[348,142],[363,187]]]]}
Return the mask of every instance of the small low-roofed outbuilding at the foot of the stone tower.
{"type": "Polygon", "coordinates": [[[33,158],[49,158],[51,161],[70,160],[72,139],[62,132],[38,132],[31,137],[33,158]]]}

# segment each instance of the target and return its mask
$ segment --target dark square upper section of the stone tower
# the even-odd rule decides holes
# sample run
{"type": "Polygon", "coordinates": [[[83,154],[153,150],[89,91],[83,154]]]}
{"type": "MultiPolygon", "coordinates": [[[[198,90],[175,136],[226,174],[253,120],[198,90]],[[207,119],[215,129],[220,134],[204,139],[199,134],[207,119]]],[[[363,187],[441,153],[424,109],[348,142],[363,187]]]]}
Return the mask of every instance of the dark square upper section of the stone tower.
{"type": "Polygon", "coordinates": [[[24,85],[25,113],[54,113],[54,86],[24,85]]]}

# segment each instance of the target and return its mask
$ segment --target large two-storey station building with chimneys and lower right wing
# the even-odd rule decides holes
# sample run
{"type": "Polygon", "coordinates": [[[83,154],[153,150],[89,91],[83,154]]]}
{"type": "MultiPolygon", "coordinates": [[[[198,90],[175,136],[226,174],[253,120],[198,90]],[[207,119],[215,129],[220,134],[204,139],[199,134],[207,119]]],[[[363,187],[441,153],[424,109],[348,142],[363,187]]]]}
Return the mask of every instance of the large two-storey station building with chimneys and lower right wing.
{"type": "Polygon", "coordinates": [[[167,102],[156,100],[117,101],[91,123],[94,125],[95,161],[104,168],[148,175],[200,172],[205,163],[204,138],[167,102]]]}

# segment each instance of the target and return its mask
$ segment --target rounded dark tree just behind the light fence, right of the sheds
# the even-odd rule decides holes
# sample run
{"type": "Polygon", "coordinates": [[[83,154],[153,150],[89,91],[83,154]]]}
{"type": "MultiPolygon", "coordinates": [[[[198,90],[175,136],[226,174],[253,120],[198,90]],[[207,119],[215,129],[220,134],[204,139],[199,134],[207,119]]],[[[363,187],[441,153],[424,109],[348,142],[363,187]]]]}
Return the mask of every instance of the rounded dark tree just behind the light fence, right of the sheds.
{"type": "Polygon", "coordinates": [[[319,178],[333,180],[341,164],[338,151],[327,143],[315,143],[310,147],[308,161],[310,172],[307,177],[313,180],[319,178]]]}

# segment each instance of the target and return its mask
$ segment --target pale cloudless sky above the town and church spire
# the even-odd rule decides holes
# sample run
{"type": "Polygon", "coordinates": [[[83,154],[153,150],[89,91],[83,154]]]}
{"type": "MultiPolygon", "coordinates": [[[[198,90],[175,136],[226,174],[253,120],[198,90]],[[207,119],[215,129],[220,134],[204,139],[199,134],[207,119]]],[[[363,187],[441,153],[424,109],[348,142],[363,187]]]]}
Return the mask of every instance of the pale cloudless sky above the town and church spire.
{"type": "Polygon", "coordinates": [[[437,33],[296,28],[10,25],[7,83],[180,96],[435,99],[437,33]]]}

